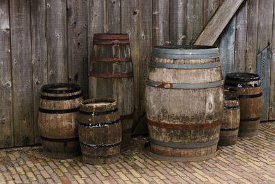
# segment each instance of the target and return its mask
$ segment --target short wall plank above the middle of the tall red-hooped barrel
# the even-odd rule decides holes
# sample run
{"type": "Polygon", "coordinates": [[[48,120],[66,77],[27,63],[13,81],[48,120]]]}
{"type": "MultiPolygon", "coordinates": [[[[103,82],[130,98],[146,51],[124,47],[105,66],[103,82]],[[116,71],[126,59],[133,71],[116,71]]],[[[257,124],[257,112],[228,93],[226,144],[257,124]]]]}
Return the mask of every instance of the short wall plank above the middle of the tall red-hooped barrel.
{"type": "Polygon", "coordinates": [[[110,33],[120,33],[120,6],[120,0],[107,0],[107,25],[110,33]]]}

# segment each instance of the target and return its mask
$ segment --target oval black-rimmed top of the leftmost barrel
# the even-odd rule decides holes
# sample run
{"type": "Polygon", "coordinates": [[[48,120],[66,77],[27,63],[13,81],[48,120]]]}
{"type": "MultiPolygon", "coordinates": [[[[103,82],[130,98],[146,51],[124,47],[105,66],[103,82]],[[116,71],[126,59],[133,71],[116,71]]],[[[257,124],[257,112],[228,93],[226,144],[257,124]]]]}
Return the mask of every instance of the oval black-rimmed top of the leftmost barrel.
{"type": "Polygon", "coordinates": [[[52,94],[66,94],[72,92],[78,92],[81,88],[76,83],[50,83],[43,85],[41,92],[52,94]]]}

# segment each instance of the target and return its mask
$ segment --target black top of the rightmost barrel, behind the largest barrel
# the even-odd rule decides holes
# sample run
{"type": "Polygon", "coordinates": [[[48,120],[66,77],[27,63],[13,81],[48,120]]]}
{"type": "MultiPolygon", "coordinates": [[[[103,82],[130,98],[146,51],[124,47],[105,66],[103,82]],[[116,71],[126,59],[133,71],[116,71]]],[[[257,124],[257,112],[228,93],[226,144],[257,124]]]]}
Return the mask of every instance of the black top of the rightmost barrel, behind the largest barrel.
{"type": "Polygon", "coordinates": [[[226,74],[225,80],[241,81],[241,82],[259,81],[260,76],[259,74],[244,73],[244,72],[230,73],[230,74],[226,74]]]}

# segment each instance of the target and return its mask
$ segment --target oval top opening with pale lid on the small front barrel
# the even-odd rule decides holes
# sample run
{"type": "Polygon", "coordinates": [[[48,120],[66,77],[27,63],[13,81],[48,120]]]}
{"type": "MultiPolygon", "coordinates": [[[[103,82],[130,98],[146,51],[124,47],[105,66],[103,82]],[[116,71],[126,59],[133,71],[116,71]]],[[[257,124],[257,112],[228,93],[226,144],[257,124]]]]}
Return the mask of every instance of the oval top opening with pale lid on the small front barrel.
{"type": "Polygon", "coordinates": [[[115,106],[115,104],[116,104],[116,100],[111,98],[87,99],[80,102],[80,105],[91,107],[91,108],[104,108],[104,107],[115,106]],[[106,104],[100,104],[100,103],[106,103],[106,104]]]}

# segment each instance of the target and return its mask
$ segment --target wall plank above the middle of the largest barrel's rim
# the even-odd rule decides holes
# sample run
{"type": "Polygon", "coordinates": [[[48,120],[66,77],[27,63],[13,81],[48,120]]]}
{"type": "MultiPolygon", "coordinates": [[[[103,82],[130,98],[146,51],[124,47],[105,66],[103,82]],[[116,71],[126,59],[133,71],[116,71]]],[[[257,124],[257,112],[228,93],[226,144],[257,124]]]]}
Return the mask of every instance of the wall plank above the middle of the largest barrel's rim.
{"type": "Polygon", "coordinates": [[[170,1],[170,43],[186,43],[187,0],[170,1]]]}

